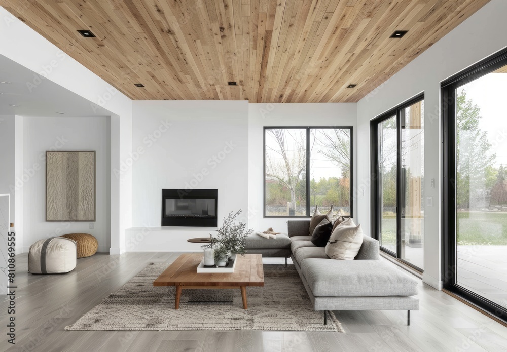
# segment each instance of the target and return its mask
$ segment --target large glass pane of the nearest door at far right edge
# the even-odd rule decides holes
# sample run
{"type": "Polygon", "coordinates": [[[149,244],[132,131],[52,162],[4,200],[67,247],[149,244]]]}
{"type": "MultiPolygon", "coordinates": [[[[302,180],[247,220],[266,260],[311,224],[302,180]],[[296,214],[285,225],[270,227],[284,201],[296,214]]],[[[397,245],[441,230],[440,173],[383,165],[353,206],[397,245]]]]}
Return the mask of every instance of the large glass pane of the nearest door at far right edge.
{"type": "Polygon", "coordinates": [[[456,90],[456,284],[507,307],[507,66],[456,90]]]}

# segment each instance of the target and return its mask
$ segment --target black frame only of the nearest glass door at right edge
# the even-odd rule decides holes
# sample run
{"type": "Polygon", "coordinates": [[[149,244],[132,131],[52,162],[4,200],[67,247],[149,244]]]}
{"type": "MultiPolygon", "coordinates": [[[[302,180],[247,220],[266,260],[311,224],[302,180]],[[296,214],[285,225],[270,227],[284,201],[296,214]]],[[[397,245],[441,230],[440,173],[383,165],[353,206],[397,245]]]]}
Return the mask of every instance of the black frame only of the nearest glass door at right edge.
{"type": "Polygon", "coordinates": [[[456,284],[456,88],[507,65],[504,49],[441,84],[442,95],[442,279],[443,286],[507,321],[507,309],[456,284]]]}

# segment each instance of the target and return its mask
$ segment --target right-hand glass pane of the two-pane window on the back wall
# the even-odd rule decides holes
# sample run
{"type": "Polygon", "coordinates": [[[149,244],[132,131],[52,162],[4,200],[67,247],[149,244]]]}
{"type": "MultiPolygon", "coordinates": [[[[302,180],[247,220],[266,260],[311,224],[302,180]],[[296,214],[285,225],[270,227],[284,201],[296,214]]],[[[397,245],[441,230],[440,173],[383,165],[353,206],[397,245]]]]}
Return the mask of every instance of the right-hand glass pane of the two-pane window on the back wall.
{"type": "Polygon", "coordinates": [[[310,215],[350,215],[350,129],[311,129],[310,148],[310,215]]]}

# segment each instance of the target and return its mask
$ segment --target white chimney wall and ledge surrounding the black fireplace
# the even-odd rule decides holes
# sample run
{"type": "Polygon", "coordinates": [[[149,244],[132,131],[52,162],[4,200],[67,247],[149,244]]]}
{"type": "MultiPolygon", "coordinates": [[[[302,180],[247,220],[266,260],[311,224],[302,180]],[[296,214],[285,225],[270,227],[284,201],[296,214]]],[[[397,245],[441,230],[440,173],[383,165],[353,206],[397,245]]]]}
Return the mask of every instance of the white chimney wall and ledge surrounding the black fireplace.
{"type": "MultiPolygon", "coordinates": [[[[246,214],[248,102],[134,101],[132,131],[132,226],[161,225],[163,188],[218,189],[219,226],[230,211],[246,214]]],[[[214,229],[126,231],[127,251],[196,250],[186,240],[214,229]]]]}

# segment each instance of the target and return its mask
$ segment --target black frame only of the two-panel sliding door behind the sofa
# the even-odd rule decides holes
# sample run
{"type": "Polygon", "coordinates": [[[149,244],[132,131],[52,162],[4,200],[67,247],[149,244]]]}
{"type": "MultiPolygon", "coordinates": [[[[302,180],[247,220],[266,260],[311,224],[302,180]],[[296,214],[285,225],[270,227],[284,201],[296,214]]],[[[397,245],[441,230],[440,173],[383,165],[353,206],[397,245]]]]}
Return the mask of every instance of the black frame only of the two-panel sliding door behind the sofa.
{"type": "Polygon", "coordinates": [[[397,260],[400,260],[401,262],[409,265],[410,267],[423,272],[423,269],[415,266],[414,264],[400,258],[401,254],[401,197],[400,194],[402,194],[402,184],[400,182],[401,176],[402,176],[402,165],[401,165],[401,159],[402,159],[402,140],[401,140],[401,115],[404,113],[404,109],[407,107],[424,100],[424,92],[421,94],[418,94],[417,96],[403,102],[402,104],[396,106],[395,108],[381,114],[377,118],[370,121],[370,140],[371,140],[371,179],[372,179],[372,186],[371,186],[371,231],[373,234],[373,237],[380,241],[380,233],[379,233],[379,221],[381,214],[380,211],[380,198],[379,198],[379,175],[378,175],[378,157],[379,157],[379,151],[380,151],[380,143],[378,140],[378,125],[393,116],[396,118],[396,253],[393,251],[388,250],[387,248],[384,248],[380,246],[380,250],[393,256],[397,260]]]}

